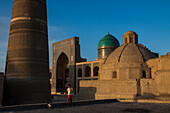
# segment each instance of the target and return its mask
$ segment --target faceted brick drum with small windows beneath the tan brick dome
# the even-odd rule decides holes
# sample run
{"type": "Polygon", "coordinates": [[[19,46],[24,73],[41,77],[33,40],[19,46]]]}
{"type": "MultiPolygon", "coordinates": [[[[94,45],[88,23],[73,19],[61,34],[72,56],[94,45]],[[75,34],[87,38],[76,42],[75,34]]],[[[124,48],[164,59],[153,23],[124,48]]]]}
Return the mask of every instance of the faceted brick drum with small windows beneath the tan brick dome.
{"type": "Polygon", "coordinates": [[[143,67],[112,67],[102,68],[100,71],[100,80],[128,80],[128,79],[141,79],[141,78],[152,78],[151,69],[143,67]],[[116,76],[114,75],[116,73],[116,76]]]}

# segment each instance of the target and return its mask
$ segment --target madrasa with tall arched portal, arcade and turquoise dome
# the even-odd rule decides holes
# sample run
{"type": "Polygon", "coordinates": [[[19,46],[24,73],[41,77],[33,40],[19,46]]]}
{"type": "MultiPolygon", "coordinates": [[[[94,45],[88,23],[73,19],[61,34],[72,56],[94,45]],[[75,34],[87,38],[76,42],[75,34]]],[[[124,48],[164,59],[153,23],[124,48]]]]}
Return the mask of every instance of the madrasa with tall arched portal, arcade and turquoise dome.
{"type": "Polygon", "coordinates": [[[87,62],[80,55],[79,37],[53,43],[53,67],[50,69],[52,94],[64,93],[68,84],[79,92],[80,81],[98,80],[100,64],[119,46],[119,41],[108,33],[98,43],[98,58],[87,62]]]}

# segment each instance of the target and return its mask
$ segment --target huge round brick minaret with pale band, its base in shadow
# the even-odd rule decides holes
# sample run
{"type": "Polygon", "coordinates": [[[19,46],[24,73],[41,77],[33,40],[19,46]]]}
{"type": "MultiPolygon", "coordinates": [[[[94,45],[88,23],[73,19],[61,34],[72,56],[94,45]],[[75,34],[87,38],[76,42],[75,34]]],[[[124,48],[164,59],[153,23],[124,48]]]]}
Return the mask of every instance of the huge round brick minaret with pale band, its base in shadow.
{"type": "Polygon", "coordinates": [[[13,0],[3,104],[50,100],[46,0],[13,0]]]}

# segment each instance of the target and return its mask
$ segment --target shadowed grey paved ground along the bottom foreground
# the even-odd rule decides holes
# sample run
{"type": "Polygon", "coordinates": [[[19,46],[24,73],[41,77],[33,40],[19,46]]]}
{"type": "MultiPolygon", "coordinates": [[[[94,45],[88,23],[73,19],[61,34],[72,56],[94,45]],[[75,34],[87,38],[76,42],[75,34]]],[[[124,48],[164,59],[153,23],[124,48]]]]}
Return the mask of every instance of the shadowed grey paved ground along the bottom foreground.
{"type": "Polygon", "coordinates": [[[3,113],[170,113],[170,104],[115,102],[72,107],[8,111],[3,113]]]}

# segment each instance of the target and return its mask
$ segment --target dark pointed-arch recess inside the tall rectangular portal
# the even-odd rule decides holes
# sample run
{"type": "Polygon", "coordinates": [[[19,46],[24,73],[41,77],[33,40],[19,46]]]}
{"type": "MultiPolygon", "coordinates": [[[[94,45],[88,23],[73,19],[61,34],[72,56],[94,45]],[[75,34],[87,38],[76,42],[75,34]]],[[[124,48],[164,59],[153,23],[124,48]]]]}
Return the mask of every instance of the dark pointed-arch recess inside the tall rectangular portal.
{"type": "Polygon", "coordinates": [[[65,92],[69,83],[69,60],[65,53],[61,53],[57,60],[56,71],[57,92],[65,92]]]}

